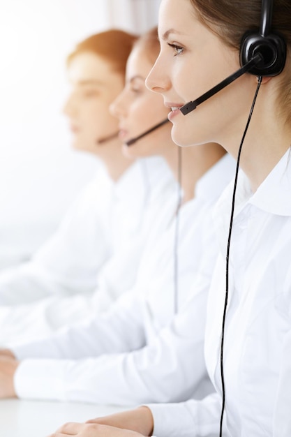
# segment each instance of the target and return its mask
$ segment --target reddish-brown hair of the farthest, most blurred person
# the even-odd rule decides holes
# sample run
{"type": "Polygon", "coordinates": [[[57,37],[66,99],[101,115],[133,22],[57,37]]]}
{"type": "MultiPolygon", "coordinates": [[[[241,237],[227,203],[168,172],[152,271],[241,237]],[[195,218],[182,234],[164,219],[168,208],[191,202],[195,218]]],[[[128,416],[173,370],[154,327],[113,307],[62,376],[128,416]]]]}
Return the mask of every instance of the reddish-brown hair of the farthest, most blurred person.
{"type": "Polygon", "coordinates": [[[76,45],[75,50],[67,57],[67,65],[78,54],[92,52],[112,64],[114,71],[124,74],[126,61],[136,39],[137,36],[119,29],[111,29],[94,34],[76,45]]]}

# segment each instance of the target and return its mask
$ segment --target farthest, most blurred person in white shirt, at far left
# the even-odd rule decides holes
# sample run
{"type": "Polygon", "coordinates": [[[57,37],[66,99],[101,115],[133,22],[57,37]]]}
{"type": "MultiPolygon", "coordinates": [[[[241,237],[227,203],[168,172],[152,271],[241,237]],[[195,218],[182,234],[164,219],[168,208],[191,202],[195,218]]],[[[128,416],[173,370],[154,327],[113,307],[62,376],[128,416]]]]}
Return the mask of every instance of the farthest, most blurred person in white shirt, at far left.
{"type": "Polygon", "coordinates": [[[149,230],[177,191],[161,158],[124,156],[110,114],[135,39],[110,29],[68,56],[64,112],[72,145],[94,156],[98,170],[33,258],[0,274],[1,345],[41,338],[108,309],[135,282],[149,230]]]}

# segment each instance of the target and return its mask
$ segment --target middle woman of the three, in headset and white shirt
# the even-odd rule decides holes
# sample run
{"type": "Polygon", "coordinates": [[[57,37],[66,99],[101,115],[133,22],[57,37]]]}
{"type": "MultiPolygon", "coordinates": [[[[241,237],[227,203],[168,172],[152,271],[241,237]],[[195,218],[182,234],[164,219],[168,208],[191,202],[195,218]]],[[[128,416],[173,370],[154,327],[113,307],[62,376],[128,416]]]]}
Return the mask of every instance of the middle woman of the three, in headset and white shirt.
{"type": "Polygon", "coordinates": [[[156,29],[135,43],[126,87],[112,111],[127,154],[161,154],[181,181],[181,198],[177,191],[170,205],[161,205],[156,222],[165,216],[168,225],[149,234],[135,286],[110,311],[13,348],[20,360],[9,363],[10,369],[17,366],[14,385],[3,378],[9,364],[0,359],[0,397],[127,406],[201,398],[213,390],[203,354],[207,291],[218,253],[211,210],[230,182],[234,160],[216,143],[181,149],[172,142],[170,123],[161,125],[168,113],[163,99],[145,87],[158,51],[156,29]],[[64,384],[56,383],[59,378],[64,384]]]}

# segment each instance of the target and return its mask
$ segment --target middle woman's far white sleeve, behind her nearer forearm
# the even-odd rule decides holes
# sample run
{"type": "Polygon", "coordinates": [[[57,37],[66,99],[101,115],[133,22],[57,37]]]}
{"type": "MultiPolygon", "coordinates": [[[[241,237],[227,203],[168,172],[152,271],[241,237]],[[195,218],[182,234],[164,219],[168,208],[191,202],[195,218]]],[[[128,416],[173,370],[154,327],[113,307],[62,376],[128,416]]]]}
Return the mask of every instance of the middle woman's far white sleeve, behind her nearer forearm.
{"type": "Polygon", "coordinates": [[[122,353],[144,345],[144,327],[134,291],[121,296],[110,311],[83,320],[44,339],[13,346],[18,360],[79,360],[122,353]]]}

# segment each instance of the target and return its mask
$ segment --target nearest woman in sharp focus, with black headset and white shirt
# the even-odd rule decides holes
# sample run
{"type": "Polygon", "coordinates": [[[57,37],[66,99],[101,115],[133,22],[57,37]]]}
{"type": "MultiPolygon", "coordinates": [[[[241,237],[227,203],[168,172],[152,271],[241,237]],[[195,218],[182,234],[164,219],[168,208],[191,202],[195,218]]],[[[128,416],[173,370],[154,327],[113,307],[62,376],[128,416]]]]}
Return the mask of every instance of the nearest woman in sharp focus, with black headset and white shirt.
{"type": "Polygon", "coordinates": [[[290,22],[289,0],[162,0],[147,85],[170,108],[172,138],[216,140],[240,158],[214,214],[221,253],[205,357],[215,392],[68,424],[56,437],[291,435],[290,22]]]}

